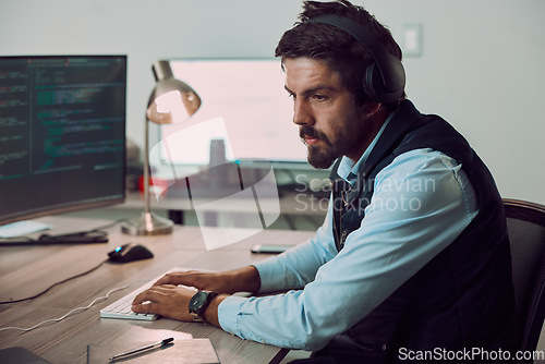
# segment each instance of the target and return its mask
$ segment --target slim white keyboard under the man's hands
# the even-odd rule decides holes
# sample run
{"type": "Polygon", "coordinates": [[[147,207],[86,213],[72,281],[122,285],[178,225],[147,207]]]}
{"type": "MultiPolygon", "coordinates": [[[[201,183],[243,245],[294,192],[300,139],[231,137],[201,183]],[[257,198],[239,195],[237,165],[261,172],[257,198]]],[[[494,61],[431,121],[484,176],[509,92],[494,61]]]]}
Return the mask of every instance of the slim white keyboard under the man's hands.
{"type": "MultiPolygon", "coordinates": [[[[165,276],[168,272],[171,271],[184,271],[189,270],[187,268],[173,268],[165,274],[160,275],[159,277],[152,279],[147,283],[143,284],[142,287],[137,288],[136,290],[132,291],[131,293],[122,296],[118,301],[111,303],[110,305],[104,307],[100,310],[100,317],[102,318],[122,318],[122,319],[138,319],[138,320],[155,320],[159,318],[159,315],[156,314],[137,314],[131,310],[133,300],[138,293],[147,290],[150,288],[159,278],[165,276]]],[[[186,286],[184,286],[186,287],[186,286]]],[[[196,288],[194,287],[186,287],[189,289],[197,291],[196,288]]]]}

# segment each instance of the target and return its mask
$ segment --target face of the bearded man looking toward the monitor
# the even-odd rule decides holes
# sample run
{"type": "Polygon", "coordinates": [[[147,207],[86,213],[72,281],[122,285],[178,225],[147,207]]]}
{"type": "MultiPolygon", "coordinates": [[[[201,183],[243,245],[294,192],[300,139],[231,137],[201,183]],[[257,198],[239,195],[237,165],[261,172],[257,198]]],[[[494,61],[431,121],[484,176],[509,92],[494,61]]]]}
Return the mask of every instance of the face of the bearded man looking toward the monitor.
{"type": "MultiPolygon", "coordinates": [[[[293,122],[308,147],[308,162],[329,168],[344,155],[358,161],[376,134],[364,107],[356,107],[340,74],[325,62],[284,60],[286,89],[293,97],[293,122]]],[[[379,126],[378,126],[379,128],[379,126]]]]}

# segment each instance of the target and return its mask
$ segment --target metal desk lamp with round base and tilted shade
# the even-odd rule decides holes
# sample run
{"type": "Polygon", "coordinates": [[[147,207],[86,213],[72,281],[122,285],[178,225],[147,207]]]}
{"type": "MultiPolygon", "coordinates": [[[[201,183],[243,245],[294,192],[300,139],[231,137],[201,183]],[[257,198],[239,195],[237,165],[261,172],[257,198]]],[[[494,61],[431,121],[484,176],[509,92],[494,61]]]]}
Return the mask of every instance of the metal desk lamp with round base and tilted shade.
{"type": "MultiPolygon", "coordinates": [[[[170,113],[162,123],[187,120],[201,107],[201,98],[185,83],[175,80],[168,61],[157,61],[152,68],[157,82],[149,96],[148,108],[154,105],[157,111],[170,113]]],[[[146,118],[144,145],[144,213],[138,219],[129,220],[121,231],[131,235],[159,235],[172,232],[173,222],[150,211],[149,208],[149,119],[146,118]]]]}

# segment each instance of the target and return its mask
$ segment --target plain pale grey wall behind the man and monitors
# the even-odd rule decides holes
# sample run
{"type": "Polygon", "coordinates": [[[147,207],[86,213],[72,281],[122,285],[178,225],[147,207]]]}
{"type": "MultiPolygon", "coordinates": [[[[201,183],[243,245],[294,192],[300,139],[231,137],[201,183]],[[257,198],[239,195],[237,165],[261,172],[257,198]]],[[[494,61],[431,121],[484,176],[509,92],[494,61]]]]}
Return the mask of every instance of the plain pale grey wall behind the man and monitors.
{"type": "MultiPolygon", "coordinates": [[[[402,39],[407,93],[438,113],[487,162],[505,197],[545,203],[545,1],[356,0],[402,39]]],[[[0,0],[0,54],[129,54],[128,135],[143,144],[150,64],[177,57],[271,57],[295,0],[0,0]]]]}

